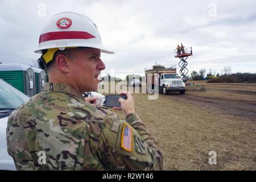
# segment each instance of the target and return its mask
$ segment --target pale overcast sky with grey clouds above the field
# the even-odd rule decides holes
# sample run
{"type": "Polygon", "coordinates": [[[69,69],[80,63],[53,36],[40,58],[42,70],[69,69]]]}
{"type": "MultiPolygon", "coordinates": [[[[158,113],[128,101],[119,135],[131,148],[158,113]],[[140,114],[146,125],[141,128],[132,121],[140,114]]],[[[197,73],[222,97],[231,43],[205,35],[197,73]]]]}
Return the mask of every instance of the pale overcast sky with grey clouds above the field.
{"type": "MultiPolygon", "coordinates": [[[[0,1],[0,61],[32,64],[40,32],[52,15],[75,11],[96,23],[105,47],[106,73],[124,78],[155,61],[177,65],[177,44],[193,48],[189,72],[256,73],[256,1],[0,1]],[[44,9],[45,7],[45,9],[44,9]],[[45,12],[44,12],[45,10],[45,12]]],[[[177,65],[177,69],[179,66],[177,65]]]]}

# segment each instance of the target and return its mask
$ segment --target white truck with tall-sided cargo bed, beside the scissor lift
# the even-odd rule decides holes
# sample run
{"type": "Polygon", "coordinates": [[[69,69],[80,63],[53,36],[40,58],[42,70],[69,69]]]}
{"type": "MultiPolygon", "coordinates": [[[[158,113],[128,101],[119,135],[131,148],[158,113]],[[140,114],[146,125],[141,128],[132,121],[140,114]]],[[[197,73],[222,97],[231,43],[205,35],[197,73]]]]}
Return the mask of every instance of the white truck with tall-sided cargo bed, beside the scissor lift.
{"type": "Polygon", "coordinates": [[[176,68],[150,69],[145,71],[145,75],[147,90],[158,89],[163,94],[168,94],[168,92],[185,93],[185,83],[177,75],[176,68]]]}

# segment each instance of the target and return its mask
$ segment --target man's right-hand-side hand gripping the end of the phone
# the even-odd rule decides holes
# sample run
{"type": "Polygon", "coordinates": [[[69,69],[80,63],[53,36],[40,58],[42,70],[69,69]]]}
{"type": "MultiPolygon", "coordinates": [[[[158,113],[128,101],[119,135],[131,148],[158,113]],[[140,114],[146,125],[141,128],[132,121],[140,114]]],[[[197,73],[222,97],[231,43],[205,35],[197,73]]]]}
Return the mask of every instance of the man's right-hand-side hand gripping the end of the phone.
{"type": "Polygon", "coordinates": [[[125,113],[125,117],[131,113],[135,113],[134,100],[130,92],[121,92],[119,95],[126,95],[127,99],[119,98],[118,102],[121,104],[121,107],[113,107],[113,109],[122,110],[125,113]]]}

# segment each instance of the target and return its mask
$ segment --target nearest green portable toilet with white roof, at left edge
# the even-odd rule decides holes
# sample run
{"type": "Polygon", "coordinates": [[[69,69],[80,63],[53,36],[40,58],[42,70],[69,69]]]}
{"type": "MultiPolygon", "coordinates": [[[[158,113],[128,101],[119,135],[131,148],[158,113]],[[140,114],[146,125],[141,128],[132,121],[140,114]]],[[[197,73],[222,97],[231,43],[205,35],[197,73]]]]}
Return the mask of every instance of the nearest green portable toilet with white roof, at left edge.
{"type": "Polygon", "coordinates": [[[29,97],[36,94],[35,74],[33,69],[27,65],[0,64],[0,78],[29,97]]]}

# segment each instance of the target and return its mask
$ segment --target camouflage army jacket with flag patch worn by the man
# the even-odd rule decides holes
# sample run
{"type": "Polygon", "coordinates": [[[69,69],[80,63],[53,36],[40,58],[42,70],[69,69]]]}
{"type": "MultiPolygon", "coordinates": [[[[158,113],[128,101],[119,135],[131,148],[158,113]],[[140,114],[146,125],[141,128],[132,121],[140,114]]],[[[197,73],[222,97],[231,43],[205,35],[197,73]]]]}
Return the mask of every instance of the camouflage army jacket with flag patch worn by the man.
{"type": "Polygon", "coordinates": [[[137,114],[120,121],[63,84],[11,113],[7,150],[18,170],[161,170],[163,157],[137,114]]]}

